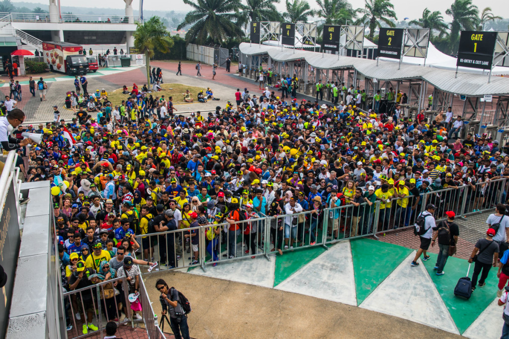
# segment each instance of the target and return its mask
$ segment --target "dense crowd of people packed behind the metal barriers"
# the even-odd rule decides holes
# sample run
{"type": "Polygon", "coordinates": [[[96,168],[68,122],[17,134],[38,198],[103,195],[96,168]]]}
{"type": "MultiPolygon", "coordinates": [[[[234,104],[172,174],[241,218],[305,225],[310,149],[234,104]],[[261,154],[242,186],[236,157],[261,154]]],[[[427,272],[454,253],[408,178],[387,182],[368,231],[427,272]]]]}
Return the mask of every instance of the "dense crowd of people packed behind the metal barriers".
{"type": "MultiPolygon", "coordinates": [[[[162,81],[157,70],[153,79],[162,81]]],[[[320,105],[261,86],[259,97],[237,89],[223,107],[177,114],[172,97],[146,86],[124,86],[125,100],[115,107],[104,89],[89,94],[86,86],[86,77],[76,77],[70,121],[55,113],[52,122],[29,125],[16,108],[0,120],[0,134],[14,128],[0,141],[17,150],[23,180],[51,182],[70,290],[125,275],[129,293],[137,293],[136,264],[195,265],[200,227],[216,265],[221,255],[237,257],[242,242],[253,258],[265,244],[283,255],[314,245],[321,232],[340,239],[411,226],[421,210],[442,218],[450,205],[433,203],[444,196],[422,204],[425,194],[445,188],[462,190],[478,210],[493,207],[497,194],[505,200],[505,189],[490,182],[509,178],[509,143],[487,134],[459,138],[465,127],[450,107],[437,119],[409,117],[397,104],[377,114],[348,101],[348,90],[320,105]],[[42,141],[23,132],[43,134],[42,141]],[[266,216],[273,217],[268,225],[259,221],[266,216]],[[171,239],[146,236],[175,230],[171,239]]],[[[123,306],[110,302],[108,319],[120,317],[120,296],[123,306]]],[[[83,319],[83,333],[94,330],[90,307],[81,311],[88,313],[74,316],[83,319]]]]}

